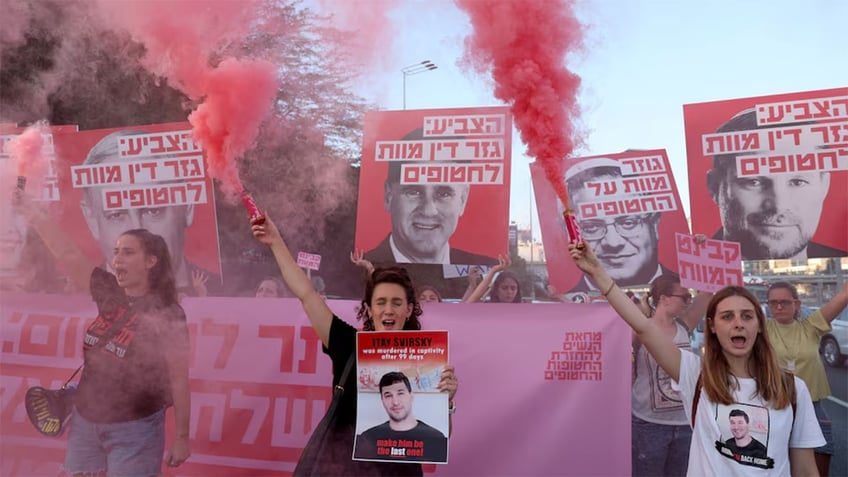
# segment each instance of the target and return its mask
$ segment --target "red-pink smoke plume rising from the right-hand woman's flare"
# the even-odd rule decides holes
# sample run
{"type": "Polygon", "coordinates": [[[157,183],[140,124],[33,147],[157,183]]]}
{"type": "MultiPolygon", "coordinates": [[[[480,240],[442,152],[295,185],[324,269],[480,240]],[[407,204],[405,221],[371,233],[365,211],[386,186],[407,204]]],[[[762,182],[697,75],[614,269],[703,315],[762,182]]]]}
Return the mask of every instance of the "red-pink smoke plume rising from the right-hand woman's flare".
{"type": "Polygon", "coordinates": [[[528,153],[568,208],[562,160],[579,141],[580,78],[564,63],[583,38],[573,1],[455,1],[474,29],[465,39],[464,59],[478,71],[491,71],[495,97],[511,106],[528,153]]]}

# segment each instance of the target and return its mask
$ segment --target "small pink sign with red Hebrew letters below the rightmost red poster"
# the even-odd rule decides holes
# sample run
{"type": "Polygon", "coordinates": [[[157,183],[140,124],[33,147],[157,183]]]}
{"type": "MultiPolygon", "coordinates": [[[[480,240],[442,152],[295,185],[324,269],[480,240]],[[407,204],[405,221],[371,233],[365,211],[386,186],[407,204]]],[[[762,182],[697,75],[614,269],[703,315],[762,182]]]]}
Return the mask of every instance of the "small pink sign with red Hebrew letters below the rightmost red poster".
{"type": "Polygon", "coordinates": [[[742,286],[742,253],[738,242],[707,239],[698,243],[691,235],[675,234],[680,284],[705,292],[728,285],[742,286]]]}

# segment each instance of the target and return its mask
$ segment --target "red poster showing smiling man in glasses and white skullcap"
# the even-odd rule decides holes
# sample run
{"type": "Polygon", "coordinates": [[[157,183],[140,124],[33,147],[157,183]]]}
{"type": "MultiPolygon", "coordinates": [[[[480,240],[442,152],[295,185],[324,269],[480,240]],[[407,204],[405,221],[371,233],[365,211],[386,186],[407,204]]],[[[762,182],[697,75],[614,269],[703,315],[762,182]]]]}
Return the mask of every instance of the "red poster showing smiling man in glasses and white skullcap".
{"type": "MultiPolygon", "coordinates": [[[[613,280],[622,287],[646,286],[677,271],[674,234],[689,229],[664,149],[563,161],[583,238],[613,280]]],[[[532,163],[530,174],[551,285],[559,293],[597,292],[568,255],[563,206],[543,169],[532,163]]]]}

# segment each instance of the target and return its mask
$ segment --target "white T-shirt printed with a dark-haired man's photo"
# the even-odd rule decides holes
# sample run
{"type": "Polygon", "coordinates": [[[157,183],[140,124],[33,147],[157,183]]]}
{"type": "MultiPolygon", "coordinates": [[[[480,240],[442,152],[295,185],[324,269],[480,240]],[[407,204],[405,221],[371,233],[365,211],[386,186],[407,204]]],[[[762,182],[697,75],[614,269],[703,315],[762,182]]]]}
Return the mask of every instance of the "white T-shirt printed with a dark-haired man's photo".
{"type": "MultiPolygon", "coordinates": [[[[701,358],[688,351],[680,357],[679,389],[688,416],[692,415],[692,398],[701,373],[701,358]]],[[[689,450],[689,476],[790,476],[789,448],[815,448],[825,444],[813,411],[810,392],[804,381],[795,377],[796,404],[775,410],[756,394],[754,379],[739,379],[734,393],[736,402],[726,406],[710,402],[701,389],[692,444],[689,450]],[[745,455],[734,450],[729,415],[737,410],[745,413],[750,435],[766,447],[767,456],[745,455]]]]}

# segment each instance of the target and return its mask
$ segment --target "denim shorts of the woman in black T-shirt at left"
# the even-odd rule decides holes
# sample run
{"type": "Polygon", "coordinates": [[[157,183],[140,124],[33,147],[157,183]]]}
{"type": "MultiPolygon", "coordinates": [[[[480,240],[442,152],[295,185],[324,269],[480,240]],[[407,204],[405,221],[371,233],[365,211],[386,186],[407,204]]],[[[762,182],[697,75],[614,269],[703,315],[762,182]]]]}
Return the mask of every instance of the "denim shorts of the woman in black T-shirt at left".
{"type": "Polygon", "coordinates": [[[109,477],[149,477],[162,472],[165,409],[135,421],[100,424],[74,412],[68,433],[65,472],[109,477]]]}

